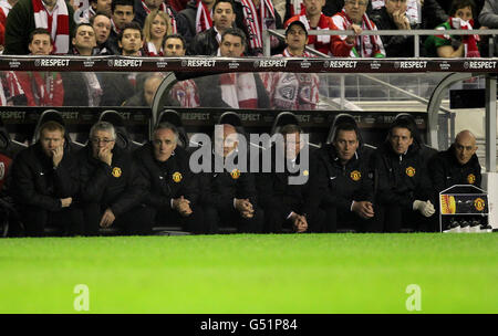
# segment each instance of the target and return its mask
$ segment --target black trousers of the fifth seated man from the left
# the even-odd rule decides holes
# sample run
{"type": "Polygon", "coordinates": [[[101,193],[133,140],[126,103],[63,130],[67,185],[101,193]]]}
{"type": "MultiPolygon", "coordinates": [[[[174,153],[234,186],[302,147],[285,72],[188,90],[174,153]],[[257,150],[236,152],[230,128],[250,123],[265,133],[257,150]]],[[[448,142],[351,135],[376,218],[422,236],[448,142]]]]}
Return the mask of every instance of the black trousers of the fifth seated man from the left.
{"type": "MultiPolygon", "coordinates": [[[[299,211],[297,209],[297,211],[299,211]]],[[[287,210],[281,208],[276,209],[264,209],[264,232],[266,233],[282,233],[283,230],[293,230],[293,223],[291,220],[288,220],[287,210]]],[[[325,220],[325,212],[321,209],[318,209],[317,213],[308,214],[308,230],[307,232],[321,232],[322,227],[325,220]]]]}

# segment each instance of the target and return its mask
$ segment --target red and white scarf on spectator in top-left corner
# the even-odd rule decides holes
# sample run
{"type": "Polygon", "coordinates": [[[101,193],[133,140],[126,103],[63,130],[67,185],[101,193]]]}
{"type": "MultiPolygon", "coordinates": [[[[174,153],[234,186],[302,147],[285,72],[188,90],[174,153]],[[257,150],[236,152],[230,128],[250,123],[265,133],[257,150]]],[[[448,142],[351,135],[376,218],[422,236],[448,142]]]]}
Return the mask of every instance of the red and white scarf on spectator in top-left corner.
{"type": "MultiPolygon", "coordinates": [[[[70,18],[64,0],[58,0],[52,14],[49,14],[42,0],[31,0],[34,10],[34,25],[50,32],[53,41],[53,54],[66,54],[70,41],[70,18]]],[[[71,18],[72,20],[72,18],[71,18]]]]}

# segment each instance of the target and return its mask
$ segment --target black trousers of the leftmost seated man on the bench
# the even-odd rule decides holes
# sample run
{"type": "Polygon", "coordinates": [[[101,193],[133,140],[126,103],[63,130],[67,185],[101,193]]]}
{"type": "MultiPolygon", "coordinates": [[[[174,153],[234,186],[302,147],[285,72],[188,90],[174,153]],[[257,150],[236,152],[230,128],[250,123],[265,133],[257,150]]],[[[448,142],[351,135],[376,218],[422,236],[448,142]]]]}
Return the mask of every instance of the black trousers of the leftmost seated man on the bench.
{"type": "Polygon", "coordinates": [[[56,227],[62,235],[84,234],[83,217],[75,207],[62,208],[60,211],[49,211],[37,207],[21,207],[21,221],[28,237],[44,237],[45,228],[56,227]]]}

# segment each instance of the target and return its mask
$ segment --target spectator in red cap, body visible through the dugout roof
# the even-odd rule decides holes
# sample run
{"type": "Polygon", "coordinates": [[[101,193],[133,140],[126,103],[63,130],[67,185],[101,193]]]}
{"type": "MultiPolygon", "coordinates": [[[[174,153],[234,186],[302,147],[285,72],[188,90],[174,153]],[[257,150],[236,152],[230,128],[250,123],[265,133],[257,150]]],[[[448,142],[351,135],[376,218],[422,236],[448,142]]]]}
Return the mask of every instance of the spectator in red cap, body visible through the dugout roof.
{"type": "MultiPolygon", "coordinates": [[[[292,21],[286,30],[286,57],[313,57],[305,51],[308,31],[301,21],[292,21]]],[[[319,103],[320,78],[312,73],[279,73],[261,74],[268,91],[272,108],[280,109],[315,109],[319,103]]]]}

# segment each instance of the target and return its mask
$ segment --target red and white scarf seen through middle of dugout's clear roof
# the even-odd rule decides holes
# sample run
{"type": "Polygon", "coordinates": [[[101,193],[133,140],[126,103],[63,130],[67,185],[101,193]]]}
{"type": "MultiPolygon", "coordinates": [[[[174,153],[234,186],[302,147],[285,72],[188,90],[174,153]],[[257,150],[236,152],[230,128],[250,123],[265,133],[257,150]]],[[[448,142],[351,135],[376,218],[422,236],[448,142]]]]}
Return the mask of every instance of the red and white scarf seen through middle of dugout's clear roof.
{"type": "Polygon", "coordinates": [[[229,73],[219,75],[221,99],[234,108],[258,108],[255,74],[229,73]]]}

